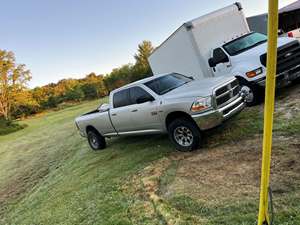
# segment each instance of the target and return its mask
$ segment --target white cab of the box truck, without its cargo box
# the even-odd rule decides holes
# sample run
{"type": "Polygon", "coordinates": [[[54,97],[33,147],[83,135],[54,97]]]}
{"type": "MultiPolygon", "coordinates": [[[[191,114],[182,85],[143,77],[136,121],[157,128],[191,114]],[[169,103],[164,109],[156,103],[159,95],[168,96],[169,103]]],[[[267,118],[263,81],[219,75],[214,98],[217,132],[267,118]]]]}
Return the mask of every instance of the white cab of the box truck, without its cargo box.
{"type": "MultiPolygon", "coordinates": [[[[261,101],[266,79],[267,36],[250,32],[212,50],[208,59],[214,76],[234,75],[247,93],[248,105],[261,101]]],[[[300,77],[300,45],[295,39],[278,38],[278,87],[300,77]]]]}

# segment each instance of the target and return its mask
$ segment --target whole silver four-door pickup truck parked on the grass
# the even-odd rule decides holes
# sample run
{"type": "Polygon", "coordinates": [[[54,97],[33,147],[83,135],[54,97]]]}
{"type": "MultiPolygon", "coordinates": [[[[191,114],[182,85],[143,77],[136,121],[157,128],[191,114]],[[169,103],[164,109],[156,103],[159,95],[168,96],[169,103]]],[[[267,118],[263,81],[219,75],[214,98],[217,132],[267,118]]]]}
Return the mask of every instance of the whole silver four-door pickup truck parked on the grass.
{"type": "Polygon", "coordinates": [[[181,74],[157,75],[110,93],[109,104],[76,118],[93,150],[106,147],[105,137],[168,133],[180,151],[192,151],[202,131],[221,124],[244,108],[235,78],[193,80],[181,74]]]}

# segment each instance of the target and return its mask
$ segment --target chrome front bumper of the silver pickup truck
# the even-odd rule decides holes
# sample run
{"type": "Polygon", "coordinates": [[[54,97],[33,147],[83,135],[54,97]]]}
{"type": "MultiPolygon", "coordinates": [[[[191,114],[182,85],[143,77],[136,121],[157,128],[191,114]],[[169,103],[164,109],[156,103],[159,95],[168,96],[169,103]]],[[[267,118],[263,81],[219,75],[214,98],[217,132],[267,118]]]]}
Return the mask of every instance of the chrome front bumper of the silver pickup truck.
{"type": "Polygon", "coordinates": [[[201,114],[192,115],[201,130],[208,130],[220,125],[245,107],[244,98],[239,96],[234,101],[216,110],[210,110],[201,114]]]}

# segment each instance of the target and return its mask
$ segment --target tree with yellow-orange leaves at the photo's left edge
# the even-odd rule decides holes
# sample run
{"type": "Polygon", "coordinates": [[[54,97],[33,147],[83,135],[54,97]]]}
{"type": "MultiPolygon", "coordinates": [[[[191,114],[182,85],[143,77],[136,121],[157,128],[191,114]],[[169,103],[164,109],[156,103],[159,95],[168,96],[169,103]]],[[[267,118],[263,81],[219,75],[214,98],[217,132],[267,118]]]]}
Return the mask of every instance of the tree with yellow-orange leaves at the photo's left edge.
{"type": "Polygon", "coordinates": [[[0,50],[0,115],[10,119],[16,95],[22,92],[31,79],[24,64],[16,64],[13,52],[0,50]]]}

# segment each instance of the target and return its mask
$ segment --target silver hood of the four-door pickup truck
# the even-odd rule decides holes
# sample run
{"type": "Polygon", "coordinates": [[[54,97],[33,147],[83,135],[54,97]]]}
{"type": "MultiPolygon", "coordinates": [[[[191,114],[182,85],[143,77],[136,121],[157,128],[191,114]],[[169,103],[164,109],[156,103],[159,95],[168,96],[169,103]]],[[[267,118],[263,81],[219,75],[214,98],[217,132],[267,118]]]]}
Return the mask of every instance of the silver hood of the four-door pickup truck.
{"type": "Polygon", "coordinates": [[[188,97],[205,97],[212,95],[213,90],[230,80],[233,77],[214,77],[205,78],[202,80],[193,80],[187,84],[184,84],[166,94],[163,95],[165,99],[173,98],[188,98],[188,97]]]}

